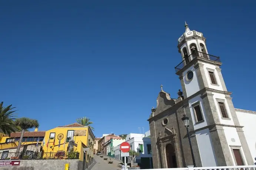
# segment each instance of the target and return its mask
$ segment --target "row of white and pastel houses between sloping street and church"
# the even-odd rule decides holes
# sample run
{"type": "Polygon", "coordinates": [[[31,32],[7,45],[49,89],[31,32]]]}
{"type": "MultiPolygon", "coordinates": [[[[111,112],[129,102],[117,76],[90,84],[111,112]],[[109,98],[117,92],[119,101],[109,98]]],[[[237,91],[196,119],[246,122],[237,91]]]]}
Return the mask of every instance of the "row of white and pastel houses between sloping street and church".
{"type": "MultiPolygon", "coordinates": [[[[98,146],[94,145],[94,153],[100,152],[102,155],[113,157],[121,162],[124,162],[124,157],[121,156],[120,145],[123,142],[128,142],[130,149],[139,153],[139,156],[134,159],[134,163],[137,163],[142,169],[153,168],[150,131],[145,134],[130,133],[125,139],[114,134],[103,134],[101,138],[96,138],[96,142],[98,146]]],[[[129,165],[130,159],[127,157],[126,160],[129,165]]]]}

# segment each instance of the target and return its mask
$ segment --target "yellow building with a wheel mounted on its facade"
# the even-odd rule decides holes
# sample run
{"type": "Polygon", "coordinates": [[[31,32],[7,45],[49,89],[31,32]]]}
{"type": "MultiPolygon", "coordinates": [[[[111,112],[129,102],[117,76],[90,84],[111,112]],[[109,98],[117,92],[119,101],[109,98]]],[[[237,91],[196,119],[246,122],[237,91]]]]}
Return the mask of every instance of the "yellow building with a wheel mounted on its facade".
{"type": "Polygon", "coordinates": [[[71,137],[74,139],[74,152],[79,152],[79,159],[86,162],[92,160],[95,136],[89,126],[78,123],[47,130],[43,152],[56,154],[62,151],[66,153],[71,137]]]}

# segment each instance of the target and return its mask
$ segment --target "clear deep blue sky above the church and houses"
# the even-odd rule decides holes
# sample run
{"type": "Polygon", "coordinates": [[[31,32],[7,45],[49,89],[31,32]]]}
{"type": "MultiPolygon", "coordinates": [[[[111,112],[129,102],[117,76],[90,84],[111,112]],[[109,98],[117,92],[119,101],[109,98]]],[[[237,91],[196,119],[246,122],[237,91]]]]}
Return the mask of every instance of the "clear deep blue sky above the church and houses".
{"type": "Polygon", "coordinates": [[[177,39],[190,30],[221,57],[235,108],[256,110],[253,2],[1,1],[1,101],[39,130],[88,116],[96,136],[149,130],[163,84],[181,88],[177,39]],[[253,74],[253,75],[252,75],[253,74]]]}

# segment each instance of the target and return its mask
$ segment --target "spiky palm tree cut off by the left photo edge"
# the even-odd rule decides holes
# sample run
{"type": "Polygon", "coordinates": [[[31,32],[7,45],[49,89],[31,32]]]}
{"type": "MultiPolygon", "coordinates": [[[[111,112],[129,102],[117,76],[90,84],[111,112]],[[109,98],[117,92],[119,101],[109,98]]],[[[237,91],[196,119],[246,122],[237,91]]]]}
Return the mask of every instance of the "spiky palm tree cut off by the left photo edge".
{"type": "Polygon", "coordinates": [[[10,135],[11,132],[16,131],[16,127],[14,125],[15,117],[13,112],[14,108],[11,105],[7,106],[6,108],[3,107],[3,103],[0,103],[0,129],[3,131],[4,134],[10,135]]]}

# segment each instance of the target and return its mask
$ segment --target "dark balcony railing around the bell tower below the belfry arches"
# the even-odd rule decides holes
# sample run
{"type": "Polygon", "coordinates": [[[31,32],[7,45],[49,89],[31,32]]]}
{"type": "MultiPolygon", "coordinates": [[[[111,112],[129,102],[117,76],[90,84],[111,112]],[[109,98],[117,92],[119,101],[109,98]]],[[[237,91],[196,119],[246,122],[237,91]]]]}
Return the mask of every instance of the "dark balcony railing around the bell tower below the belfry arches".
{"type": "Polygon", "coordinates": [[[199,51],[193,51],[192,54],[190,54],[188,57],[186,57],[182,62],[180,62],[175,68],[175,72],[178,72],[180,69],[182,69],[185,65],[187,65],[190,61],[193,59],[200,57],[211,61],[217,61],[220,62],[220,57],[206,54],[199,51]]]}

